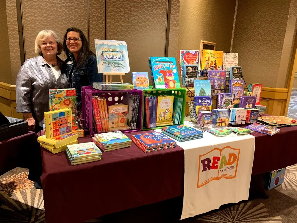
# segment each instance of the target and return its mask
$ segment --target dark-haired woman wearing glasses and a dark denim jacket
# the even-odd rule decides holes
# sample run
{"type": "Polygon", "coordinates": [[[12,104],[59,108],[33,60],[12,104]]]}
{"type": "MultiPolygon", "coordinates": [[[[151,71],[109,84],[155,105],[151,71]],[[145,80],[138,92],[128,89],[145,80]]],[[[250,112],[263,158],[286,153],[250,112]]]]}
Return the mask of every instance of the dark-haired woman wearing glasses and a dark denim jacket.
{"type": "Polygon", "coordinates": [[[98,73],[96,55],[90,50],[87,38],[81,30],[68,28],[64,35],[63,49],[67,56],[63,69],[70,87],[76,88],[76,120],[82,126],[82,86],[102,82],[103,75],[98,73]]]}

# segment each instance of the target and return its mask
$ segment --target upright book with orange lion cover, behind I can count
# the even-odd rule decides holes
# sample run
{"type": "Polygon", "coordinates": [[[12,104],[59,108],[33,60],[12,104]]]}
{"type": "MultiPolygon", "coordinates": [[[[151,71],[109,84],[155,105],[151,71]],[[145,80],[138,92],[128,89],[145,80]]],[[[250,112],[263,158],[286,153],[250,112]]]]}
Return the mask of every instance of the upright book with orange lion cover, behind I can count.
{"type": "Polygon", "coordinates": [[[50,89],[49,110],[71,109],[72,114],[76,113],[76,89],[50,89]]]}

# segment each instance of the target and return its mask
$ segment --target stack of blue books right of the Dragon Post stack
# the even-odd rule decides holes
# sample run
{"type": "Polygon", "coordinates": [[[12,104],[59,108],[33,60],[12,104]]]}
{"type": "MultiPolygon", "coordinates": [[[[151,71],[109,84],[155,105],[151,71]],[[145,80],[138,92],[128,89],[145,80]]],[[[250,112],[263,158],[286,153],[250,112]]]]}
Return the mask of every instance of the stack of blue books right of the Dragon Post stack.
{"type": "Polygon", "coordinates": [[[202,131],[186,125],[163,127],[162,133],[179,142],[203,138],[202,131]]]}

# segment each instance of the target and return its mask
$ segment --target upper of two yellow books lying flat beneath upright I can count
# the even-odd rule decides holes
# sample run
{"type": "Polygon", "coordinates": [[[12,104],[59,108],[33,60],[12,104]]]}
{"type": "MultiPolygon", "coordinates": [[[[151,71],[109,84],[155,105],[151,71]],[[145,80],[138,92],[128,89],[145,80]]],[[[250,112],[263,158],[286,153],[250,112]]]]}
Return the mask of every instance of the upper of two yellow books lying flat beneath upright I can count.
{"type": "Polygon", "coordinates": [[[75,140],[77,140],[77,135],[74,133],[68,133],[67,135],[55,139],[46,138],[46,135],[37,138],[38,143],[54,146],[56,148],[62,145],[67,145],[75,140]]]}

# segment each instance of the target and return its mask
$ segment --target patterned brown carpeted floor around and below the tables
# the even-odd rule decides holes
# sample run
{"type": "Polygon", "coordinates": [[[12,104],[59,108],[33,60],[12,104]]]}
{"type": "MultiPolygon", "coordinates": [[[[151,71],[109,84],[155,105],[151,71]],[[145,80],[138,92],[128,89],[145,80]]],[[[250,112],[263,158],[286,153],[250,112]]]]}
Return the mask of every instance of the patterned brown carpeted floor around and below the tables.
{"type": "MultiPolygon", "coordinates": [[[[24,168],[15,168],[0,176],[0,222],[45,222],[42,190],[36,190],[27,176],[28,170],[24,168]]],[[[224,205],[219,210],[182,221],[178,220],[182,203],[179,197],[88,222],[296,223],[297,164],[287,167],[285,182],[268,194],[269,199],[224,205]]]]}

